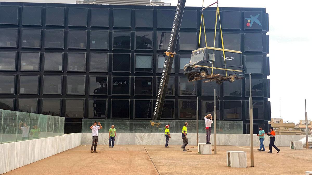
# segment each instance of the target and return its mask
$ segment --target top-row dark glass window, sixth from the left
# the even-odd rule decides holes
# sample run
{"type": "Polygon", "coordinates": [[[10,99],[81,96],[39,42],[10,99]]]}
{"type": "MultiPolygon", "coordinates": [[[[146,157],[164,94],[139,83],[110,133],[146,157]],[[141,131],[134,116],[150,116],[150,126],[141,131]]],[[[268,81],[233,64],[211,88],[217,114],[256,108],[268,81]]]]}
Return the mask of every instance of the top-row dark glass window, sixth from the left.
{"type": "Polygon", "coordinates": [[[114,9],[114,27],[131,27],[131,9],[114,9]]]}

